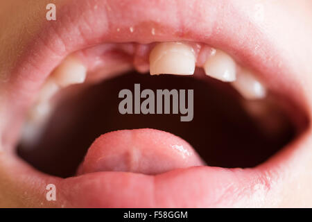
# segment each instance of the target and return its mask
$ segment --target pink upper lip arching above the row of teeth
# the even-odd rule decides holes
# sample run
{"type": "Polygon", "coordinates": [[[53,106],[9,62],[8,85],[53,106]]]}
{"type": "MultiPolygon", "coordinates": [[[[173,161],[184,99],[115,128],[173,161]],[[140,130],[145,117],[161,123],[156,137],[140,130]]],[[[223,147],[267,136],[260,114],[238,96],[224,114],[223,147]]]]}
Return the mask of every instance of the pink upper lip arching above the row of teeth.
{"type": "MultiPolygon", "coordinates": [[[[103,42],[148,43],[180,40],[202,42],[226,51],[236,61],[256,71],[268,88],[287,95],[288,99],[296,104],[293,108],[295,112],[297,108],[306,110],[307,99],[301,88],[288,87],[290,82],[300,85],[295,73],[289,72],[291,69],[285,65],[286,62],[283,62],[283,66],[280,65],[280,61],[284,60],[280,49],[270,42],[261,26],[252,21],[237,1],[213,1],[213,3],[204,0],[159,1],[157,6],[155,1],[144,0],[122,3],[100,0],[69,1],[58,10],[56,22],[44,24],[33,42],[29,44],[28,51],[21,56],[17,66],[12,70],[8,84],[10,85],[8,91],[11,93],[8,93],[8,96],[14,96],[19,102],[8,104],[7,110],[12,113],[17,113],[15,110],[26,110],[44,78],[53,71],[62,58],[73,51],[103,42]],[[193,10],[190,6],[194,7],[193,10]],[[130,32],[130,27],[133,28],[133,32],[130,32]],[[117,31],[117,28],[120,31],[117,31]],[[152,28],[155,28],[155,35],[151,32],[152,28]],[[254,53],[255,46],[259,46],[257,53],[254,53]],[[268,51],[275,58],[270,62],[267,59],[268,51]]],[[[22,114],[17,116],[22,118],[22,114]]],[[[16,116],[14,118],[15,121],[19,120],[16,116]]],[[[10,119],[11,126],[12,122],[10,119]]],[[[8,144],[4,144],[4,147],[12,146],[16,142],[17,133],[6,130],[6,135],[9,134],[16,136],[10,137],[12,141],[7,141],[8,144]]],[[[262,166],[259,169],[266,167],[262,166]]],[[[261,187],[261,191],[266,193],[270,189],[271,179],[274,180],[275,177],[272,176],[269,181],[268,177],[256,177],[254,174],[257,173],[253,173],[252,177],[263,179],[259,184],[264,186],[261,187]]],[[[95,180],[94,175],[87,177],[95,180]]],[[[103,174],[99,180],[104,180],[105,177],[110,177],[110,174],[103,174]]],[[[149,178],[145,180],[151,183],[149,178]]],[[[88,186],[86,185],[85,189],[88,186]]],[[[66,187],[67,185],[63,185],[64,189],[66,187]]],[[[214,185],[211,185],[211,188],[213,187],[214,185]]],[[[227,187],[220,195],[225,195],[225,191],[234,191],[232,188],[236,187],[227,187]]],[[[219,198],[218,196],[215,200],[220,200],[219,198]]]]}

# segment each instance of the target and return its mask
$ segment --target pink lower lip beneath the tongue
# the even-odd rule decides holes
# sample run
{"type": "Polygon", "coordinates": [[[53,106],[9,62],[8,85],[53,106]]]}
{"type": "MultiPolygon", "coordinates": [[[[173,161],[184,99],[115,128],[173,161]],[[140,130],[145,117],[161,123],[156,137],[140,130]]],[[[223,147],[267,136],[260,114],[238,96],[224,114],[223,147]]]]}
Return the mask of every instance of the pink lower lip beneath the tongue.
{"type": "Polygon", "coordinates": [[[217,167],[177,169],[157,176],[98,172],[61,180],[56,187],[74,207],[229,207],[266,194],[270,183],[259,175],[265,174],[217,167]]]}

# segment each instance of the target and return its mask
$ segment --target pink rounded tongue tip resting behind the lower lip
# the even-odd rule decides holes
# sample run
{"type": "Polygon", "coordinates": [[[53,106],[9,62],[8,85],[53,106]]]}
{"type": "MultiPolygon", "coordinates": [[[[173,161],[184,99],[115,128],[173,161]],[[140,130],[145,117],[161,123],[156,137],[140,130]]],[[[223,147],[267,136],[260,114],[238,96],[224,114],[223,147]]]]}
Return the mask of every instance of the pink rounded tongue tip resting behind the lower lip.
{"type": "Polygon", "coordinates": [[[98,137],[78,174],[125,171],[158,174],[202,166],[198,153],[183,139],[160,130],[119,130],[98,137]]]}

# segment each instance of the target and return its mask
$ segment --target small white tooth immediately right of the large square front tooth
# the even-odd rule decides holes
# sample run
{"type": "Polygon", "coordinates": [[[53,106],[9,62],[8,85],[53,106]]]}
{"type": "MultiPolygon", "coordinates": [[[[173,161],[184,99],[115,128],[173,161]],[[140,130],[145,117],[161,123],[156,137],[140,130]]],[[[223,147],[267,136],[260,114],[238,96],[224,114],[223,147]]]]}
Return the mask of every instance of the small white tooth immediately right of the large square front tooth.
{"type": "Polygon", "coordinates": [[[227,53],[220,50],[216,50],[216,53],[208,58],[204,64],[204,69],[207,76],[223,82],[233,82],[236,79],[235,61],[227,53]]]}

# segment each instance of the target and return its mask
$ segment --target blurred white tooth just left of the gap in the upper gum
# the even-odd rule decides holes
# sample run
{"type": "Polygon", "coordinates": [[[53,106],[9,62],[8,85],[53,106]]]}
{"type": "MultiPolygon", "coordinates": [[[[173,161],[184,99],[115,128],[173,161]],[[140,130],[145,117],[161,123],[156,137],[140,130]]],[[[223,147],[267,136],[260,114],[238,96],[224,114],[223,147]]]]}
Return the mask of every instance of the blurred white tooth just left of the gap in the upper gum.
{"type": "Polygon", "coordinates": [[[55,82],[61,87],[83,83],[86,75],[86,67],[73,56],[67,57],[52,74],[55,82]]]}

